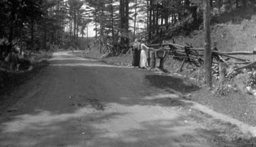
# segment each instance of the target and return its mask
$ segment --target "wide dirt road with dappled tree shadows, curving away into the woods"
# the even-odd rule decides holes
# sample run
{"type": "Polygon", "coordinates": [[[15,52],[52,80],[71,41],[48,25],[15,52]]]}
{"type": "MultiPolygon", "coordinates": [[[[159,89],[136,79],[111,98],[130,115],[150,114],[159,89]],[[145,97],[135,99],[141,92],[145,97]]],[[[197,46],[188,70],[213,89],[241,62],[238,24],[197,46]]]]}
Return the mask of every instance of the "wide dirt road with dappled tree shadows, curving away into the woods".
{"type": "Polygon", "coordinates": [[[68,52],[49,63],[6,95],[17,101],[1,112],[0,146],[222,146],[145,80],[150,71],[68,52]]]}

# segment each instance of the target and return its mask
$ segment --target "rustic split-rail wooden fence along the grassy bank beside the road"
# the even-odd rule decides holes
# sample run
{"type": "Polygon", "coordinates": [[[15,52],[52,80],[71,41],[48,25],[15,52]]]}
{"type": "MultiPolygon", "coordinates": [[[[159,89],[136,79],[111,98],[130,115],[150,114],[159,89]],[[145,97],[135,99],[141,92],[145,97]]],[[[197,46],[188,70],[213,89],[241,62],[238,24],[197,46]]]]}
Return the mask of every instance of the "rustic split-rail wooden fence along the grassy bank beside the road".
{"type": "MultiPolygon", "coordinates": [[[[204,60],[202,59],[202,57],[204,56],[204,48],[193,48],[192,46],[182,46],[182,45],[177,45],[175,43],[148,45],[148,47],[154,48],[152,49],[153,52],[159,52],[159,50],[164,50],[165,59],[168,57],[179,58],[179,59],[183,59],[183,63],[185,60],[187,60],[188,62],[195,61],[195,60],[204,62],[204,60]]],[[[250,60],[232,56],[232,55],[255,55],[256,54],[255,50],[253,50],[252,52],[246,52],[246,51],[220,52],[218,48],[214,47],[212,48],[211,52],[212,52],[212,60],[215,59],[217,62],[223,62],[224,64],[227,64],[227,65],[246,64],[245,66],[236,68],[236,70],[256,66],[256,62],[250,62],[250,60]],[[230,59],[233,59],[234,61],[230,61],[230,59]]],[[[157,53],[154,53],[154,54],[157,55],[157,53]]],[[[161,65],[161,67],[163,67],[163,65],[161,65]]],[[[180,71],[181,69],[182,67],[180,68],[180,71]]]]}

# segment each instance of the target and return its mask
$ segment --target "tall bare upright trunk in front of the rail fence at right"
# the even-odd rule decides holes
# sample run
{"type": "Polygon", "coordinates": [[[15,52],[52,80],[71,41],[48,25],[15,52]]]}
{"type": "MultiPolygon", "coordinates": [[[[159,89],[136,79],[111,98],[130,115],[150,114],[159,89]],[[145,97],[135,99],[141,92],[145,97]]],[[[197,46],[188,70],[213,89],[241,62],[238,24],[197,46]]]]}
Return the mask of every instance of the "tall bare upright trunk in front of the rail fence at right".
{"type": "Polygon", "coordinates": [[[204,31],[205,31],[205,45],[204,45],[204,82],[207,86],[212,86],[211,75],[211,9],[209,0],[204,0],[204,31]]]}

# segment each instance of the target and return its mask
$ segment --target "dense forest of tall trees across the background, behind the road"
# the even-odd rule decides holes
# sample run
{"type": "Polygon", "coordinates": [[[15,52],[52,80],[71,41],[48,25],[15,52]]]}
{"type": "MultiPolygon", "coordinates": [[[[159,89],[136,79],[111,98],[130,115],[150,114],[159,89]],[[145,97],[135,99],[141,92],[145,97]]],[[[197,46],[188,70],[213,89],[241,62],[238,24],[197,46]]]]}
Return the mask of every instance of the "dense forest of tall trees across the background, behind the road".
{"type": "MultiPolygon", "coordinates": [[[[211,0],[210,4],[214,20],[218,13],[246,8],[255,1],[211,0]]],[[[20,53],[84,49],[88,25],[95,27],[95,41],[128,44],[134,36],[149,43],[170,39],[200,27],[204,9],[202,0],[2,0],[0,8],[2,61],[17,46],[20,53]]]]}

